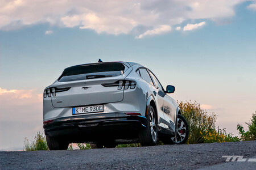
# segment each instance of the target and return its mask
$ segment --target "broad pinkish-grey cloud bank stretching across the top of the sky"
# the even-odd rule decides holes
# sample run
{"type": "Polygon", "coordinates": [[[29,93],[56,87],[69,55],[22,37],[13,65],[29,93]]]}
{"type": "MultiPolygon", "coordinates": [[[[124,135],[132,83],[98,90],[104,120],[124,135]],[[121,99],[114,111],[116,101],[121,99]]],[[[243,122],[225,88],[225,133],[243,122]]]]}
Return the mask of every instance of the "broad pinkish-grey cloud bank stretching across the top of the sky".
{"type": "Polygon", "coordinates": [[[234,7],[244,1],[0,0],[0,29],[8,31],[48,23],[57,27],[92,29],[97,33],[129,34],[139,25],[155,29],[187,20],[225,20],[234,16],[234,7]]]}

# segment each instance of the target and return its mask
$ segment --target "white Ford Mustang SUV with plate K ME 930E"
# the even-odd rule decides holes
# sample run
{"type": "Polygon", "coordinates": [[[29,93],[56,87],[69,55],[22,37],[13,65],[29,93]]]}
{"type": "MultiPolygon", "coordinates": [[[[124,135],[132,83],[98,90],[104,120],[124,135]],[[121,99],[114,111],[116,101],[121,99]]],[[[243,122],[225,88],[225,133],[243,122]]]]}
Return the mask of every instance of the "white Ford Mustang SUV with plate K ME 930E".
{"type": "Polygon", "coordinates": [[[46,87],[43,127],[50,150],[69,143],[92,148],[140,142],[182,144],[188,125],[179,105],[146,67],[133,62],[98,62],[68,67],[46,87]]]}

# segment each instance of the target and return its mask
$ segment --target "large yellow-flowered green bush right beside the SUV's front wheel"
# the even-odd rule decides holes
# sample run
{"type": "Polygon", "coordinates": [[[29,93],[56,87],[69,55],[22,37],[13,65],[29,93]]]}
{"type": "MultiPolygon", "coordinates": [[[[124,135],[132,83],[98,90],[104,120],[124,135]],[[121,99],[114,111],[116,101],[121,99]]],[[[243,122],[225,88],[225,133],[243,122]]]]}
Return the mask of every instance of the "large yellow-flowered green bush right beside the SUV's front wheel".
{"type": "Polygon", "coordinates": [[[187,101],[178,101],[181,115],[185,117],[189,126],[189,143],[236,142],[238,137],[227,134],[225,129],[215,128],[216,114],[207,113],[200,104],[187,101]]]}

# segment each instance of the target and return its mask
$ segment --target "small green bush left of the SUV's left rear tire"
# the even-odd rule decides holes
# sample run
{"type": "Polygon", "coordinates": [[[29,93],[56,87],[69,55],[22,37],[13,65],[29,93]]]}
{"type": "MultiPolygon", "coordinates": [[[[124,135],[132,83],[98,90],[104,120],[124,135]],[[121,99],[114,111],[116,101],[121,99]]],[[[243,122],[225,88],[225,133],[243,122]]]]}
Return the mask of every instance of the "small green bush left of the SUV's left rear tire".
{"type": "Polygon", "coordinates": [[[46,137],[43,133],[38,132],[34,141],[29,142],[27,138],[24,141],[24,151],[42,151],[49,150],[46,142],[46,137]]]}

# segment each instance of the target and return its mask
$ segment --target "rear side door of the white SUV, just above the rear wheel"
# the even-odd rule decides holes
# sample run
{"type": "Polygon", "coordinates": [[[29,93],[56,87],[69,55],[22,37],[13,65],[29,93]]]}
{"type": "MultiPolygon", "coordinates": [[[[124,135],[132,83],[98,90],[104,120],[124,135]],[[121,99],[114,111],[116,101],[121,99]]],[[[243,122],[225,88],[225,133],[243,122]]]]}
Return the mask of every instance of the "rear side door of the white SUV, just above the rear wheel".
{"type": "Polygon", "coordinates": [[[144,80],[146,80],[146,82],[151,84],[152,93],[154,94],[155,102],[156,102],[156,110],[158,112],[158,125],[162,126],[163,128],[166,128],[166,126],[163,123],[161,123],[162,122],[161,120],[164,120],[163,111],[162,111],[162,109],[160,109],[161,107],[163,107],[163,96],[159,95],[159,88],[157,88],[155,86],[155,83],[153,83],[154,81],[152,80],[152,78],[146,68],[139,69],[138,74],[144,80]]]}

